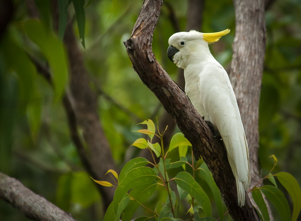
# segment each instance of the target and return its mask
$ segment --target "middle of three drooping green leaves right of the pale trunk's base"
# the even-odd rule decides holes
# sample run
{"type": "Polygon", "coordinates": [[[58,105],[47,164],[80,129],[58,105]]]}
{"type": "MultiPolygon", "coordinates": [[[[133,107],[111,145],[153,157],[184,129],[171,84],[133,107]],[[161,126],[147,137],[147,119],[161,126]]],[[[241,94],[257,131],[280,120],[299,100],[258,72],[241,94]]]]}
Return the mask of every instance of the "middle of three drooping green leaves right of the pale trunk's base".
{"type": "Polygon", "coordinates": [[[274,204],[281,217],[281,220],[291,220],[291,214],[287,199],[279,189],[277,189],[275,186],[270,185],[262,186],[259,189],[268,198],[268,200],[270,200],[274,204]]]}

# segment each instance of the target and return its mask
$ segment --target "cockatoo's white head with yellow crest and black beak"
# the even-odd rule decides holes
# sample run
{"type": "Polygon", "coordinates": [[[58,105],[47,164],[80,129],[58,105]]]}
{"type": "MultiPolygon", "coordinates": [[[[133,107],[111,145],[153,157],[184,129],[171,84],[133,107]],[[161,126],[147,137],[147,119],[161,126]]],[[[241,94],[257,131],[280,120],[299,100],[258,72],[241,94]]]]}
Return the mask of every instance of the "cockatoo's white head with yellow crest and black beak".
{"type": "Polygon", "coordinates": [[[230,29],[214,33],[202,33],[195,30],[178,32],[168,39],[168,58],[178,67],[185,68],[193,59],[200,59],[201,54],[210,53],[208,44],[217,42],[230,29]]]}

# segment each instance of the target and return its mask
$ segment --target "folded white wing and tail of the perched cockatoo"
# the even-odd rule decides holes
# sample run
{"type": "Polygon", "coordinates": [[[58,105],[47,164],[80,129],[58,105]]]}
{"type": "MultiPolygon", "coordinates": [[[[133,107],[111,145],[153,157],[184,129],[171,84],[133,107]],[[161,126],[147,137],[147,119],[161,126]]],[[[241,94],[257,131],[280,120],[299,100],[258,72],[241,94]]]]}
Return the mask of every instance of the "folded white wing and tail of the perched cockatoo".
{"type": "Polygon", "coordinates": [[[209,121],[224,141],[238,195],[241,193],[242,197],[250,184],[249,151],[235,94],[224,68],[208,63],[200,73],[199,89],[209,121]]]}

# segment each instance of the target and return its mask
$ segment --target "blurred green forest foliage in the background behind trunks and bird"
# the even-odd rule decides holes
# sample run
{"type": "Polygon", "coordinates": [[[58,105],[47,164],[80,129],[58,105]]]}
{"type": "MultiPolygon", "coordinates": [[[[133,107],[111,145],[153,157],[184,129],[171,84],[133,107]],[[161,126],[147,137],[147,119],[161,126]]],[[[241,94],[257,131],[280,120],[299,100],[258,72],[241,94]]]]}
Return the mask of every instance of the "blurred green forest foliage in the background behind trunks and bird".
{"type": "MultiPolygon", "coordinates": [[[[13,19],[0,39],[0,171],[19,179],[26,187],[72,213],[78,220],[101,220],[104,216],[99,200],[101,196],[93,180],[83,170],[70,139],[64,108],[59,102],[68,70],[65,53],[60,49],[60,37],[52,31],[51,1],[35,1],[40,21],[29,20],[27,1],[13,2],[13,19]],[[45,34],[52,37],[46,39],[45,34]],[[51,68],[53,76],[56,76],[54,84],[58,85],[54,90],[37,73],[27,54],[51,68]],[[58,65],[62,66],[58,68],[58,65]]],[[[131,35],[142,2],[86,0],[84,38],[82,28],[78,29],[76,20],[74,22],[91,88],[98,94],[101,123],[120,168],[138,155],[137,149],[130,147],[139,138],[131,132],[138,130],[136,124],[143,119],[155,120],[162,112],[156,97],[133,71],[123,45],[123,41],[131,35]]],[[[173,5],[180,29],[185,30],[187,1],[165,2],[173,5]]],[[[164,3],[152,47],[156,59],[175,79],[177,68],[166,56],[168,38],[175,31],[164,3]]],[[[69,15],[77,18],[72,4],[68,7],[69,15]]],[[[205,1],[204,7],[202,32],[231,29],[222,41],[211,46],[213,55],[227,68],[231,62],[231,44],[235,34],[233,3],[230,0],[219,1],[218,4],[205,1]]],[[[300,11],[299,0],[274,1],[266,11],[267,46],[259,110],[259,160],[263,175],[273,166],[273,162],[266,159],[274,154],[278,158],[275,173],[289,172],[299,184],[300,11]]],[[[271,184],[269,182],[266,181],[271,184]]],[[[158,189],[155,193],[146,203],[156,204],[166,199],[163,190],[158,189]]],[[[287,198],[290,199],[289,196],[287,198]]],[[[292,206],[292,201],[289,205],[292,206]]],[[[139,211],[140,215],[144,213],[142,208],[139,211]]],[[[224,220],[229,220],[227,216],[224,220]]],[[[27,219],[11,205],[0,201],[0,220],[27,219]]]]}

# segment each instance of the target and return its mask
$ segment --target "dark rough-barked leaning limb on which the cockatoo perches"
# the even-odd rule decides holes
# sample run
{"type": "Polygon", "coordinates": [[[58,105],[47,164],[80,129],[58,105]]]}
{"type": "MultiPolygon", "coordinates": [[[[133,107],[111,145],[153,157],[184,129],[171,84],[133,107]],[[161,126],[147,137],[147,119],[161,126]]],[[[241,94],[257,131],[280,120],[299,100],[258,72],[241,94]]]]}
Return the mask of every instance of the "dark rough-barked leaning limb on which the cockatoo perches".
{"type": "Polygon", "coordinates": [[[133,69],[173,117],[179,129],[192,144],[194,156],[201,155],[219,187],[234,220],[259,220],[246,194],[245,206],[239,207],[235,179],[222,141],[213,138],[210,129],[192,106],[185,93],[157,62],[152,52],[152,35],[158,21],[161,0],[144,1],[132,36],[124,42],[133,69]]]}

